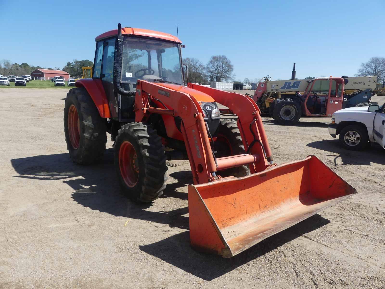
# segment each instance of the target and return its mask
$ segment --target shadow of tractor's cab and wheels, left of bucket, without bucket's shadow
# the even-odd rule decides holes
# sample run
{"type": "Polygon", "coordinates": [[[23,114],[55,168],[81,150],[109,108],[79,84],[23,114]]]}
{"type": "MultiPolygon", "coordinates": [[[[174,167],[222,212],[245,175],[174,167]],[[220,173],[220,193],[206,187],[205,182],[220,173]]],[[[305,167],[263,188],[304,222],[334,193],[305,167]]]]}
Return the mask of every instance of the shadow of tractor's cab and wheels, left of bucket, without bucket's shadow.
{"type": "MultiPolygon", "coordinates": [[[[107,149],[102,161],[90,166],[74,164],[68,153],[18,158],[11,160],[11,163],[19,174],[14,176],[15,178],[62,180],[74,190],[72,199],[92,210],[117,217],[147,220],[167,224],[170,227],[188,229],[188,217],[183,216],[188,213],[188,207],[151,212],[146,209],[152,207],[154,203],[133,203],[122,194],[115,172],[113,154],[114,149],[107,149]]],[[[177,180],[189,183],[186,171],[174,172],[171,175],[177,180]]],[[[161,198],[172,196],[187,200],[187,193],[176,191],[176,188],[184,186],[186,186],[184,183],[179,182],[167,185],[161,198]]]]}

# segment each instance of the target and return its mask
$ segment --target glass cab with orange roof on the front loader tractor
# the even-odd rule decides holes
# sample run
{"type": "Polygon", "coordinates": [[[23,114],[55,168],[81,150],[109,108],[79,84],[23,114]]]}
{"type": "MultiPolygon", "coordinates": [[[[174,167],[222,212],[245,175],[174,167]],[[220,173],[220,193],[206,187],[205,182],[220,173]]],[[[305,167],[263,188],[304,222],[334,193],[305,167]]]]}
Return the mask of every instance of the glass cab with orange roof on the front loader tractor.
{"type": "Polygon", "coordinates": [[[111,119],[129,122],[135,118],[138,80],[184,87],[181,42],[152,30],[125,27],[119,33],[111,30],[96,37],[92,78],[102,81],[111,119]]]}

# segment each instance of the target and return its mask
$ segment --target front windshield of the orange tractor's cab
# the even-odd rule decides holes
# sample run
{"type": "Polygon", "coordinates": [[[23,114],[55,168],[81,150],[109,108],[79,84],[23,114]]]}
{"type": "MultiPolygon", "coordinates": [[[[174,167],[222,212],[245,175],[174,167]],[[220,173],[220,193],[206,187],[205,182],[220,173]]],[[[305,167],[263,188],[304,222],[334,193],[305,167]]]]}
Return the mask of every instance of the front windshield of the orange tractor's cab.
{"type": "Polygon", "coordinates": [[[122,82],[137,79],[183,84],[176,43],[139,37],[124,37],[122,82]]]}

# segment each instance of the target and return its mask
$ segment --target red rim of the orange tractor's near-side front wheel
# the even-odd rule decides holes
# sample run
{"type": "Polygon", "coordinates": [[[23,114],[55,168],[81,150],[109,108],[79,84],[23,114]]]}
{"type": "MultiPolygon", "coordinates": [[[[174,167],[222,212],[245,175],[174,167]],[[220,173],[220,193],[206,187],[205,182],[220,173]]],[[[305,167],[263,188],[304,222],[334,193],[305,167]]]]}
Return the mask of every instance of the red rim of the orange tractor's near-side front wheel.
{"type": "Polygon", "coordinates": [[[139,178],[139,164],[136,151],[129,141],[124,141],[120,147],[119,168],[126,185],[134,187],[139,178]]]}

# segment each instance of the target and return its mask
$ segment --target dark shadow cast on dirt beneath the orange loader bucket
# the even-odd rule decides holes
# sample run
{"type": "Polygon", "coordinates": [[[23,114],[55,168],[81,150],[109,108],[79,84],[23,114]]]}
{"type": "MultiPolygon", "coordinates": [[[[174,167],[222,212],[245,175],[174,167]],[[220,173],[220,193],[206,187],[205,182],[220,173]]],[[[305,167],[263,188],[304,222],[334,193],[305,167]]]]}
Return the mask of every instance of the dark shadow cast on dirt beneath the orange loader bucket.
{"type": "Polygon", "coordinates": [[[153,244],[140,245],[139,249],[187,273],[211,281],[328,223],[330,223],[328,219],[318,214],[313,215],[230,259],[194,251],[190,247],[189,232],[182,232],[153,244]]]}

